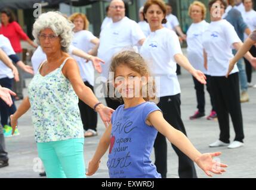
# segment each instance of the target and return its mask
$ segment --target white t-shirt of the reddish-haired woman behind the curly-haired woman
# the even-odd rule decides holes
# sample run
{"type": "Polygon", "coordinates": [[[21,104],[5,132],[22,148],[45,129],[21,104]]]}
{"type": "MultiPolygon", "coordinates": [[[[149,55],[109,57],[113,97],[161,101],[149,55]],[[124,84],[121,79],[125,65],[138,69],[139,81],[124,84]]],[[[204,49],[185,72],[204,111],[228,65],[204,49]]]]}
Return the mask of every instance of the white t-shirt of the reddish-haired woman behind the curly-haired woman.
{"type": "MultiPolygon", "coordinates": [[[[81,30],[74,34],[72,45],[78,49],[88,52],[91,49],[91,40],[96,39],[96,37],[88,30],[81,30]]],[[[80,74],[82,80],[87,81],[92,86],[94,85],[94,66],[92,62],[86,62],[85,59],[73,55],[73,58],[78,62],[80,69],[80,74]]]]}

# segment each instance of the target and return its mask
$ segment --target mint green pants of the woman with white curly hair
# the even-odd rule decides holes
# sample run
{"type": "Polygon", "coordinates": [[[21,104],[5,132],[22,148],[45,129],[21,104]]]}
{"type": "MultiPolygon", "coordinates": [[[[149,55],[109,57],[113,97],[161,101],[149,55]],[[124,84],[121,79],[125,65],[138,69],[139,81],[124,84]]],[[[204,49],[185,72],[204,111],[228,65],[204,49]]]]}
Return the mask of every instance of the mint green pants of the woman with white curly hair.
{"type": "Polygon", "coordinates": [[[86,178],[84,138],[36,143],[47,178],[86,178]]]}

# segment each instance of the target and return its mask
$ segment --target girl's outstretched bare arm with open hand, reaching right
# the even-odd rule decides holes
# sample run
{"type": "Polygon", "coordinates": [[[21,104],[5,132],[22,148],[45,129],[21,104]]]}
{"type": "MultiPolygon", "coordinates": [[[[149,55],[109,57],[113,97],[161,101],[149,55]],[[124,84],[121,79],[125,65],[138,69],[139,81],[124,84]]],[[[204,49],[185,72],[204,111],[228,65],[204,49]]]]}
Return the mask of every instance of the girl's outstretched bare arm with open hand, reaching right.
{"type": "Polygon", "coordinates": [[[193,162],[196,162],[199,167],[208,176],[212,176],[210,172],[221,174],[226,172],[222,167],[227,167],[226,164],[218,163],[212,158],[220,156],[221,153],[205,153],[201,154],[189,139],[181,131],[173,128],[165,121],[160,111],[152,112],[147,118],[147,122],[153,125],[161,134],[165,135],[168,140],[186,154],[193,162]]]}

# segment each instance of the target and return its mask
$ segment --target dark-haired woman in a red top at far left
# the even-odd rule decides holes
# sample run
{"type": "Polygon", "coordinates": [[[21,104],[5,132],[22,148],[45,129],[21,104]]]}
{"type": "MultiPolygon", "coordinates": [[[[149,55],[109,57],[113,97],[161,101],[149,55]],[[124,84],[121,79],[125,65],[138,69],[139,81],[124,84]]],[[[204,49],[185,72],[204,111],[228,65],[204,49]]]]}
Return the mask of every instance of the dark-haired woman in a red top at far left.
{"type": "MultiPolygon", "coordinates": [[[[29,43],[29,45],[33,47],[37,47],[32,40],[29,39],[26,33],[21,29],[20,25],[15,21],[15,17],[13,12],[10,9],[3,9],[1,11],[1,26],[0,26],[0,34],[3,34],[7,37],[11,46],[14,49],[14,52],[18,55],[18,57],[22,60],[22,48],[20,44],[20,39],[29,43]]],[[[18,70],[20,73],[20,81],[14,83],[14,91],[17,94],[18,99],[23,99],[23,71],[18,70]]]]}

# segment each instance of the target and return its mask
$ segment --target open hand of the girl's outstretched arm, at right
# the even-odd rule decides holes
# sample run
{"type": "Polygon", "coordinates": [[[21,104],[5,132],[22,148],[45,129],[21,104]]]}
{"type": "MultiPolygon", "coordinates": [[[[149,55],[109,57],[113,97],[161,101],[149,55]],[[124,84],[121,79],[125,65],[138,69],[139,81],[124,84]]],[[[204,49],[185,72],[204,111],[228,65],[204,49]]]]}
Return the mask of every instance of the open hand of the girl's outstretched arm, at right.
{"type": "Polygon", "coordinates": [[[210,177],[212,177],[210,172],[215,174],[222,174],[223,172],[226,172],[226,170],[223,169],[223,167],[227,167],[227,165],[212,159],[215,156],[220,156],[220,154],[220,152],[205,153],[198,157],[198,159],[196,159],[195,162],[206,173],[206,175],[210,177]]]}

